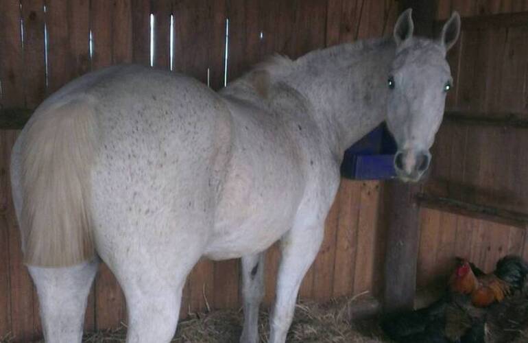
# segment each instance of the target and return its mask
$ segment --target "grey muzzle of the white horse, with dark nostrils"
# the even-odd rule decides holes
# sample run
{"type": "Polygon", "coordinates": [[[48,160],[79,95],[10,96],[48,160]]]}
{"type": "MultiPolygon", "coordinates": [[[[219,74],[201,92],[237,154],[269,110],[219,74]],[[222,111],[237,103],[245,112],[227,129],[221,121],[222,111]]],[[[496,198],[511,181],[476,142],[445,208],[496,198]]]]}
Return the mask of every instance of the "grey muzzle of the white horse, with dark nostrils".
{"type": "Polygon", "coordinates": [[[417,182],[425,174],[431,163],[428,151],[399,150],[394,155],[394,169],[400,180],[417,182]]]}

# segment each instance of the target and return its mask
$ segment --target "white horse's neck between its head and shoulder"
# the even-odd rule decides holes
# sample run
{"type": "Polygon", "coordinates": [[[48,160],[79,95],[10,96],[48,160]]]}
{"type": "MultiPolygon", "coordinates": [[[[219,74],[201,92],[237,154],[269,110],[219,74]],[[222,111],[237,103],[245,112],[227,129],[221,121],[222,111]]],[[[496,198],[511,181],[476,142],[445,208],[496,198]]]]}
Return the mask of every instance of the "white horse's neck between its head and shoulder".
{"type": "Polygon", "coordinates": [[[313,108],[337,158],[385,121],[387,75],[396,45],[387,38],[314,51],[285,80],[313,108]]]}

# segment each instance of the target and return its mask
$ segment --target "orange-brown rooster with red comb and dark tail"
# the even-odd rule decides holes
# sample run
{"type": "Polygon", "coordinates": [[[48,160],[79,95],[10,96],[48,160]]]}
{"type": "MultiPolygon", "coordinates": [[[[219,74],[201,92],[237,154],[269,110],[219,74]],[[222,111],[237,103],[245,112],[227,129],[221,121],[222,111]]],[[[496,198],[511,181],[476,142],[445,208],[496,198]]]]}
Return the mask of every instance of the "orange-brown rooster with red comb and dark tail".
{"type": "Polygon", "coordinates": [[[458,261],[459,265],[449,279],[449,289],[453,293],[468,294],[477,307],[500,302],[522,289],[528,273],[527,264],[517,256],[503,257],[492,274],[484,274],[464,259],[458,261]]]}

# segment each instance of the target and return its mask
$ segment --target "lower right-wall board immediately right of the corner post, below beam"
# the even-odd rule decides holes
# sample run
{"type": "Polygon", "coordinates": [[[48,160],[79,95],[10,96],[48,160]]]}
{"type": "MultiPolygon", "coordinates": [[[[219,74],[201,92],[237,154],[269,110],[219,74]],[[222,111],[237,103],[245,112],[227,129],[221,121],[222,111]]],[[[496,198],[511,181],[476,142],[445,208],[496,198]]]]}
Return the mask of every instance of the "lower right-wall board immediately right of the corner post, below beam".
{"type": "Polygon", "coordinates": [[[418,265],[416,285],[427,286],[435,279],[437,242],[440,234],[440,211],[420,210],[420,246],[418,248],[418,265]]]}

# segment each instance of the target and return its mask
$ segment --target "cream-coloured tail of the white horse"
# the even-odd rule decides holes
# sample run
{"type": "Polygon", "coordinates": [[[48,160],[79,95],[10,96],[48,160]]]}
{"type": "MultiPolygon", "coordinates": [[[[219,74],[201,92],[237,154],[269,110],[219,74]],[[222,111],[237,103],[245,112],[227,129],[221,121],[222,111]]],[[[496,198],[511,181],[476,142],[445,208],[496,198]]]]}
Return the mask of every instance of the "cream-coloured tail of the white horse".
{"type": "Polygon", "coordinates": [[[43,112],[28,123],[21,143],[19,220],[25,263],[64,267],[95,255],[90,171],[99,130],[84,99],[43,112]]]}

